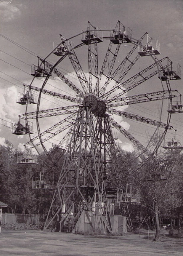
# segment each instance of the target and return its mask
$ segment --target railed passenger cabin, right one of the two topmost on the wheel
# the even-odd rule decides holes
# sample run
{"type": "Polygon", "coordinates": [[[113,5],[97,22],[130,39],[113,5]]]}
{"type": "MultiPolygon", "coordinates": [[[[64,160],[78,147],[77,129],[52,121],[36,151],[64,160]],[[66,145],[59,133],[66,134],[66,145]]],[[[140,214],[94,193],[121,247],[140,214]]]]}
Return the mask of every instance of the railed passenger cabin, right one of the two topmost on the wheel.
{"type": "Polygon", "coordinates": [[[125,30],[125,26],[118,21],[115,29],[111,31],[110,41],[113,44],[124,44],[131,43],[132,30],[131,28],[127,28],[127,33],[125,30]]]}

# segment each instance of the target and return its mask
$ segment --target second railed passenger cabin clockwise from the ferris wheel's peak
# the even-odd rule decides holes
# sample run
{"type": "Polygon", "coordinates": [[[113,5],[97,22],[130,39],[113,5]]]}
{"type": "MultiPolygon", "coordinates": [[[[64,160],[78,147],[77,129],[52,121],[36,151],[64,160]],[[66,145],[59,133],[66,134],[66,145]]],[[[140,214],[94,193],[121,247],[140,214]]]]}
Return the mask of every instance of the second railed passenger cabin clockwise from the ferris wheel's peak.
{"type": "Polygon", "coordinates": [[[160,44],[157,39],[156,41],[156,46],[153,47],[153,42],[152,38],[148,35],[147,33],[147,41],[145,44],[139,44],[138,46],[138,54],[142,57],[144,56],[150,56],[150,55],[158,55],[160,54],[160,44]]]}

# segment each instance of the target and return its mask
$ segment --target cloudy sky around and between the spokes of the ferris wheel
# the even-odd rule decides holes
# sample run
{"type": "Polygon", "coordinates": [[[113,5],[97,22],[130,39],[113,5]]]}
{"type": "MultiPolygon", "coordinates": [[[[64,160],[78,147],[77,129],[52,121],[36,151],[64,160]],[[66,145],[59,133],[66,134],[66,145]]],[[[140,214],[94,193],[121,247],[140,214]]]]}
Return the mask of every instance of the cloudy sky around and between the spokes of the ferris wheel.
{"type": "MultiPolygon", "coordinates": [[[[105,30],[113,29],[118,20],[126,28],[132,29],[132,36],[135,39],[139,39],[145,32],[148,32],[153,39],[157,38],[161,49],[161,55],[158,58],[168,56],[173,61],[175,70],[178,63],[183,67],[182,0],[0,0],[1,144],[6,138],[15,147],[22,148],[22,145],[28,140],[26,137],[28,135],[12,135],[9,127],[12,127],[12,122],[18,121],[18,115],[25,112],[25,106],[16,103],[16,95],[17,92],[22,92],[23,84],[31,83],[33,78],[30,75],[31,64],[37,65],[36,56],[46,57],[53,49],[53,42],[60,42],[59,34],[66,38],[77,35],[82,30],[87,29],[88,21],[105,30]]],[[[99,51],[105,53],[106,49],[101,47],[99,51]]],[[[81,62],[82,51],[83,49],[78,51],[81,62]]],[[[125,49],[124,51],[127,52],[128,50],[125,49]]],[[[50,61],[56,62],[56,57],[51,57],[50,61]]],[[[142,66],[149,65],[148,61],[145,62],[146,60],[142,66]]],[[[84,62],[83,64],[85,65],[84,62]]],[[[134,72],[138,72],[139,68],[136,67],[134,72]]],[[[77,84],[73,70],[69,68],[68,63],[62,66],[62,71],[77,84]]],[[[85,68],[84,71],[87,73],[85,68]]],[[[154,84],[148,84],[149,89],[146,88],[146,92],[153,92],[161,88],[160,80],[156,79],[153,82],[154,84]],[[152,87],[154,88],[152,89],[152,87]]],[[[33,85],[41,86],[40,80],[36,80],[33,85]]],[[[177,89],[183,94],[182,80],[171,81],[171,88],[177,89]]],[[[47,89],[73,95],[64,84],[53,78],[47,89]]],[[[42,104],[42,108],[46,109],[64,106],[65,103],[55,99],[53,102],[53,99],[49,100],[49,98],[44,97],[42,104]]],[[[155,118],[155,116],[160,115],[158,113],[160,105],[156,103],[156,107],[155,110],[151,106],[142,105],[137,108],[134,107],[133,111],[140,116],[158,120],[158,117],[155,118]]],[[[32,106],[29,111],[34,110],[36,110],[36,106],[32,106]]],[[[177,129],[177,136],[180,140],[183,139],[182,115],[172,115],[171,118],[171,125],[177,129]]],[[[166,111],[163,111],[162,121],[166,122],[166,116],[166,111]]],[[[118,121],[134,137],[137,136],[139,141],[145,140],[145,136],[149,135],[147,126],[137,128],[137,123],[122,118],[118,121]]],[[[46,128],[55,123],[53,120],[42,121],[46,128]]],[[[36,126],[34,129],[36,132],[36,126]]],[[[168,137],[171,136],[172,133],[170,132],[168,137]]],[[[131,150],[133,148],[126,139],[120,138],[120,140],[125,149],[131,150]]]]}

